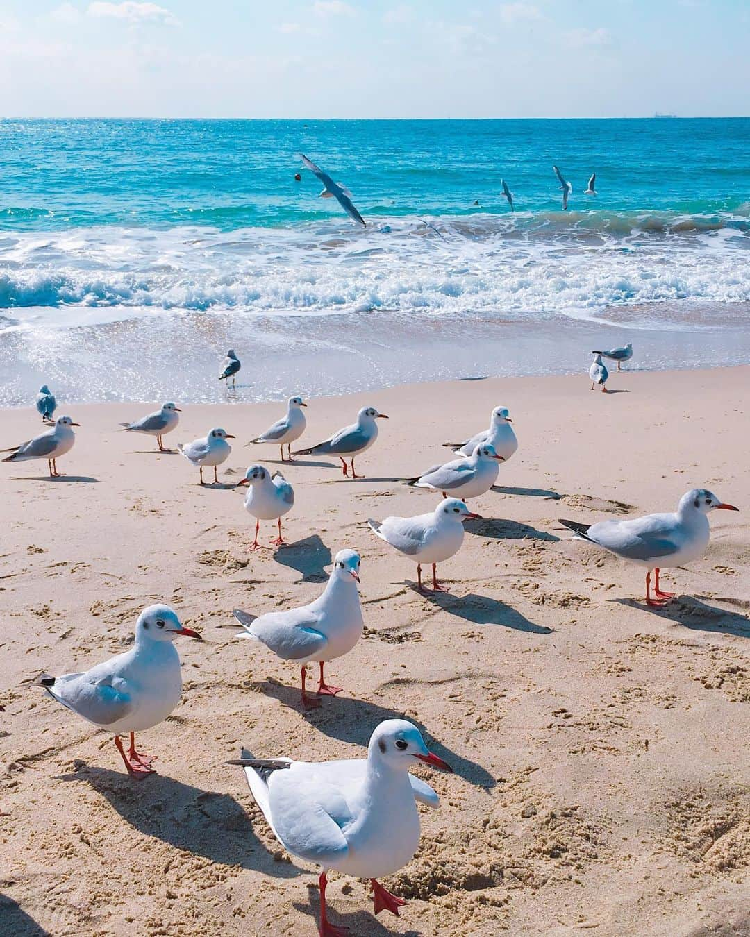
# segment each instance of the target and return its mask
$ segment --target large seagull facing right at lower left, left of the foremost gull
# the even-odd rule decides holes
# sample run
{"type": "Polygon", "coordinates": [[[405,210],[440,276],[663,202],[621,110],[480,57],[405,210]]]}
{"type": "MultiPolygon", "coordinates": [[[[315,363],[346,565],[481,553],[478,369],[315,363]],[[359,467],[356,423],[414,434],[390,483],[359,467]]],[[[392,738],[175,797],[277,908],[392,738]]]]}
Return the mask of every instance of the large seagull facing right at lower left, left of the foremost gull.
{"type": "Polygon", "coordinates": [[[169,605],[149,605],[136,622],[135,645],[124,654],[82,674],[42,674],[36,681],[58,703],[114,734],[114,744],[131,778],[154,773],[154,759],[136,751],[135,733],[164,721],[180,701],[180,658],[173,645],[176,634],[201,638],[180,624],[169,605]],[[120,738],[124,733],[130,734],[128,752],[120,738]]]}

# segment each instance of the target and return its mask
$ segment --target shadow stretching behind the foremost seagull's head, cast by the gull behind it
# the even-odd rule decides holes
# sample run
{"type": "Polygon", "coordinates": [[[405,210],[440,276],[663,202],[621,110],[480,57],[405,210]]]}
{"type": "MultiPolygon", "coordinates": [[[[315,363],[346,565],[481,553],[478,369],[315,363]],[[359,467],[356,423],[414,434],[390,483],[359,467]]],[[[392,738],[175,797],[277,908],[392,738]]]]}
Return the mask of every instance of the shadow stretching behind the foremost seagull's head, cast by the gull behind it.
{"type": "MultiPolygon", "coordinates": [[[[420,682],[425,686],[430,685],[428,680],[414,682],[420,682]]],[[[288,706],[300,712],[299,687],[288,686],[285,683],[279,683],[278,680],[266,678],[259,680],[255,688],[267,696],[275,697],[282,706],[288,706]]],[[[411,715],[406,716],[394,709],[386,709],[384,706],[378,706],[377,703],[353,699],[351,696],[324,696],[320,708],[309,709],[305,715],[310,724],[314,725],[324,736],[338,738],[339,741],[350,745],[361,745],[363,757],[364,750],[368,747],[369,736],[372,735],[377,725],[386,719],[408,719],[425,736],[429,750],[444,758],[464,781],[469,781],[477,787],[495,786],[496,781],[488,770],[467,758],[462,758],[457,752],[451,751],[438,738],[432,736],[422,722],[411,715]]]]}

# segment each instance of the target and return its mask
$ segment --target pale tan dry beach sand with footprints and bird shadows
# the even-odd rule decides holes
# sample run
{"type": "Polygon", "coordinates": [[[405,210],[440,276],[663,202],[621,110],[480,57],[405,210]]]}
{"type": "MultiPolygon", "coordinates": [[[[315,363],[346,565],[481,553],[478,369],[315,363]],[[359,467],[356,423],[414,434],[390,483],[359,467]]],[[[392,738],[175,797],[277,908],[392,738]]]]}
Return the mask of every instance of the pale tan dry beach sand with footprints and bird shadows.
{"type": "MultiPolygon", "coordinates": [[[[0,930],[4,935],[314,934],[317,879],[290,861],[254,805],[240,745],[305,759],[357,755],[405,714],[456,768],[419,769],[442,796],[413,862],[386,885],[409,899],[371,915],[365,887],[333,876],[332,920],[357,934],[750,933],[747,575],[750,368],[424,384],[313,400],[310,443],[363,403],[390,414],[362,457],[284,468],[293,545],[250,554],[232,488],[273,447],[244,440],[278,404],[186,407],[166,440],[223,425],[239,439],[200,488],[177,454],[114,431],[143,405],[65,406],[82,424],[50,481],[45,463],[0,466],[0,930]],[[451,594],[422,597],[413,565],[363,522],[420,513],[399,484],[449,455],[504,404],[520,448],[503,487],[473,501],[445,563],[451,594]],[[329,467],[330,465],[330,467],[329,467]],[[569,539],[558,517],[671,510],[705,484],[742,513],[712,514],[707,556],[665,575],[680,598],[642,602],[644,577],[569,539]],[[346,689],[297,709],[296,669],[218,625],[312,599],[330,556],[362,553],[367,633],[327,676],[346,689]],[[406,583],[405,583],[406,580],[406,583]],[[111,736],[28,681],[128,646],[140,609],[170,602],[205,642],[178,645],[185,692],[141,736],[159,774],[131,781],[111,736]]],[[[9,445],[40,427],[0,412],[9,445]]],[[[272,526],[262,528],[264,541],[272,526]]],[[[420,809],[422,810],[422,809],[420,809]]]]}

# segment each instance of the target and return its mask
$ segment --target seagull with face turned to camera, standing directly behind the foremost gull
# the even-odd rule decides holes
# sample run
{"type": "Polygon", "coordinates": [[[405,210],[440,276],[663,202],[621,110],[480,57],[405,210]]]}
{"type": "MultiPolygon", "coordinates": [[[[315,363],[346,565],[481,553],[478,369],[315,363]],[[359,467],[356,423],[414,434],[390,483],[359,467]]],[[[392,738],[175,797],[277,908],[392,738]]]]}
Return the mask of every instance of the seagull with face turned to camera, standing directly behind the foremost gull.
{"type": "Polygon", "coordinates": [[[255,617],[234,610],[234,617],[245,632],[240,638],[260,641],[282,661],[293,661],[302,667],[302,706],[320,706],[320,699],[311,699],[305,692],[308,662],[321,667],[318,697],[335,696],[341,687],[326,684],[323,666],[327,661],[343,657],[362,636],[362,608],[359,604],[359,554],[339,550],[328,578],[328,585],[315,602],[284,612],[267,612],[255,617]]]}

